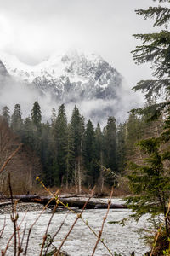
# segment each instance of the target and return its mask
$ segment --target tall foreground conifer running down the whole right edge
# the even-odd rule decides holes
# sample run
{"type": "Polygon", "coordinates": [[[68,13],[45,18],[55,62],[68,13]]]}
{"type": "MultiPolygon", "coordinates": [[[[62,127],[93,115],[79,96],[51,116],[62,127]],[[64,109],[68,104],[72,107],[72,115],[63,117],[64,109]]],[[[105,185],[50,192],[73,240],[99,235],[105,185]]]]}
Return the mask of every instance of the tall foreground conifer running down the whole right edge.
{"type": "MultiPolygon", "coordinates": [[[[149,9],[139,9],[138,15],[143,15],[144,19],[155,19],[154,26],[163,26],[160,32],[138,34],[135,38],[142,40],[142,45],[137,46],[133,51],[133,58],[136,63],[150,62],[155,79],[140,81],[133,90],[143,90],[148,102],[147,107],[137,110],[138,113],[150,113],[151,119],[156,119],[162,110],[167,108],[167,119],[169,119],[169,71],[170,71],[170,32],[168,22],[170,20],[170,9],[168,0],[159,0],[159,3],[166,3],[165,6],[150,7],[149,9]],[[155,96],[165,92],[164,100],[161,103],[153,103],[155,96]]],[[[167,125],[167,121],[166,121],[167,125]]],[[[161,136],[142,140],[139,147],[144,152],[146,158],[143,165],[131,163],[133,172],[128,176],[130,186],[135,196],[129,198],[129,207],[139,217],[145,213],[150,213],[152,217],[162,213],[165,220],[165,234],[161,232],[161,245],[156,248],[154,255],[162,255],[163,249],[168,248],[167,238],[170,234],[170,216],[168,212],[169,200],[169,168],[165,161],[170,160],[169,151],[162,143],[169,140],[169,129],[161,136]]]]}

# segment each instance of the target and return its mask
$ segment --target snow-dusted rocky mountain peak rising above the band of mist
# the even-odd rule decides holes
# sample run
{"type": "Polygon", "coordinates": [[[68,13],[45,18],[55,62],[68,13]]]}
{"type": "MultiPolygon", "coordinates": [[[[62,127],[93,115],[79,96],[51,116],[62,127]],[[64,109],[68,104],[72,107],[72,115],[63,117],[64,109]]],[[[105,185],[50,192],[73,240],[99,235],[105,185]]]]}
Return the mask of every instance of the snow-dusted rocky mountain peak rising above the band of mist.
{"type": "Polygon", "coordinates": [[[76,50],[53,55],[36,66],[3,53],[0,60],[12,77],[34,84],[43,94],[60,102],[115,99],[122,83],[122,75],[99,55],[76,50]]]}

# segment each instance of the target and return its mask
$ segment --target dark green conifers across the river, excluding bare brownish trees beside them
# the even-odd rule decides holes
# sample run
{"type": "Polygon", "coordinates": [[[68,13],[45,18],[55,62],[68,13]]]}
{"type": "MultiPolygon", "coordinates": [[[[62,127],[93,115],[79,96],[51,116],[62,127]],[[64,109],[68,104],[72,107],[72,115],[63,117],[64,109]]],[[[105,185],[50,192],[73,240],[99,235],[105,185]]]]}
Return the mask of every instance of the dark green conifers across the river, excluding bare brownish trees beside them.
{"type": "Polygon", "coordinates": [[[15,104],[10,115],[5,106],[2,111],[12,131],[20,142],[29,147],[41,160],[42,179],[48,186],[75,186],[81,192],[82,185],[94,184],[102,190],[106,184],[116,184],[122,172],[123,138],[122,126],[116,127],[116,119],[109,117],[101,129],[85,119],[77,106],[68,122],[65,105],[58,112],[53,108],[50,121],[42,122],[41,107],[34,102],[31,115],[22,118],[20,104],[15,104]]]}

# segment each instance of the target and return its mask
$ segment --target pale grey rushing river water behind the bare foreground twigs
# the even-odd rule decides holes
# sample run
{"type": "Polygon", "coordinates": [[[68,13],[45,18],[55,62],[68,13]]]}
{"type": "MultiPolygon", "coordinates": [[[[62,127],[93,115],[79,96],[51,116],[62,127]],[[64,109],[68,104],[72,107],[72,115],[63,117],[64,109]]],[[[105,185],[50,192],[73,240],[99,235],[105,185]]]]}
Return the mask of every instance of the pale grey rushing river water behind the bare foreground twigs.
{"type": "MultiPolygon", "coordinates": [[[[113,203],[117,203],[116,201],[112,201],[113,203]]],[[[88,224],[92,227],[96,233],[99,233],[101,229],[101,225],[103,222],[103,218],[105,217],[106,209],[94,209],[94,210],[85,210],[82,214],[82,218],[88,220],[88,224]]],[[[37,218],[40,212],[28,212],[25,218],[25,221],[22,224],[24,228],[25,224],[27,229],[31,226],[33,221],[37,218]]],[[[144,241],[142,241],[139,234],[136,232],[139,228],[145,228],[147,226],[147,222],[145,218],[141,218],[139,223],[129,222],[125,226],[121,226],[119,224],[109,224],[111,221],[122,220],[123,218],[127,218],[130,215],[130,210],[128,209],[111,209],[108,215],[107,220],[105,221],[105,227],[102,234],[102,238],[105,241],[105,244],[111,252],[114,254],[122,253],[122,255],[130,255],[132,251],[134,251],[137,256],[144,255],[144,252],[147,251],[147,247],[144,245],[144,241]]],[[[54,214],[54,218],[49,227],[48,234],[53,235],[55,231],[59,228],[59,225],[65,218],[65,211],[59,211],[54,214]]],[[[19,223],[23,218],[24,213],[19,213],[19,223]]],[[[29,249],[27,255],[39,255],[40,253],[40,244],[42,243],[42,236],[45,233],[48,220],[51,217],[51,212],[46,211],[42,214],[41,218],[37,221],[37,224],[33,227],[31,232],[31,238],[29,243],[29,249]]],[[[77,216],[74,213],[69,213],[65,224],[60,230],[58,236],[54,241],[55,246],[59,246],[61,241],[64,239],[67,232],[70,230],[71,225],[77,216]]],[[[0,215],[0,229],[3,226],[4,215],[0,215]]],[[[13,224],[11,223],[9,214],[6,215],[7,226],[5,227],[3,238],[0,239],[0,248],[3,249],[8,241],[9,236],[13,233],[13,224]]],[[[22,228],[22,230],[23,230],[22,228]]],[[[62,250],[65,250],[71,256],[88,256],[92,255],[94,245],[96,243],[97,238],[94,236],[91,230],[82,223],[82,220],[79,219],[74,229],[71,231],[70,236],[65,241],[62,250]]],[[[26,243],[26,241],[25,241],[26,243]]],[[[8,249],[7,255],[13,255],[12,247],[8,249]]],[[[108,251],[105,249],[103,244],[99,242],[97,250],[95,252],[96,256],[102,255],[110,255],[108,251]]]]}

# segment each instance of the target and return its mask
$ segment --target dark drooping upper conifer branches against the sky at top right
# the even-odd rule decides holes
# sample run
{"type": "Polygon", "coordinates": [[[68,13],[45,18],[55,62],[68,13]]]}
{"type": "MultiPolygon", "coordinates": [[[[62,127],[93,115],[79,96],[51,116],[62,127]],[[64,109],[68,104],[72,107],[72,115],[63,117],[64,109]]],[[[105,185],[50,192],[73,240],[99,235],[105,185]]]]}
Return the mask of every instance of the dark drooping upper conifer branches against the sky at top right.
{"type": "Polygon", "coordinates": [[[136,10],[138,15],[144,16],[144,19],[155,19],[154,26],[161,26],[160,32],[136,34],[135,38],[142,41],[142,45],[133,50],[133,59],[137,64],[150,62],[153,70],[153,76],[156,79],[142,80],[133,90],[142,90],[145,92],[145,98],[152,102],[155,96],[160,96],[162,90],[165,91],[166,97],[163,102],[152,104],[148,108],[140,108],[139,113],[148,113],[152,117],[157,117],[166,105],[169,104],[169,73],[170,73],[170,32],[167,30],[170,20],[170,8],[168,0],[159,0],[159,3],[167,3],[166,7],[157,6],[149,9],[136,10]]]}

